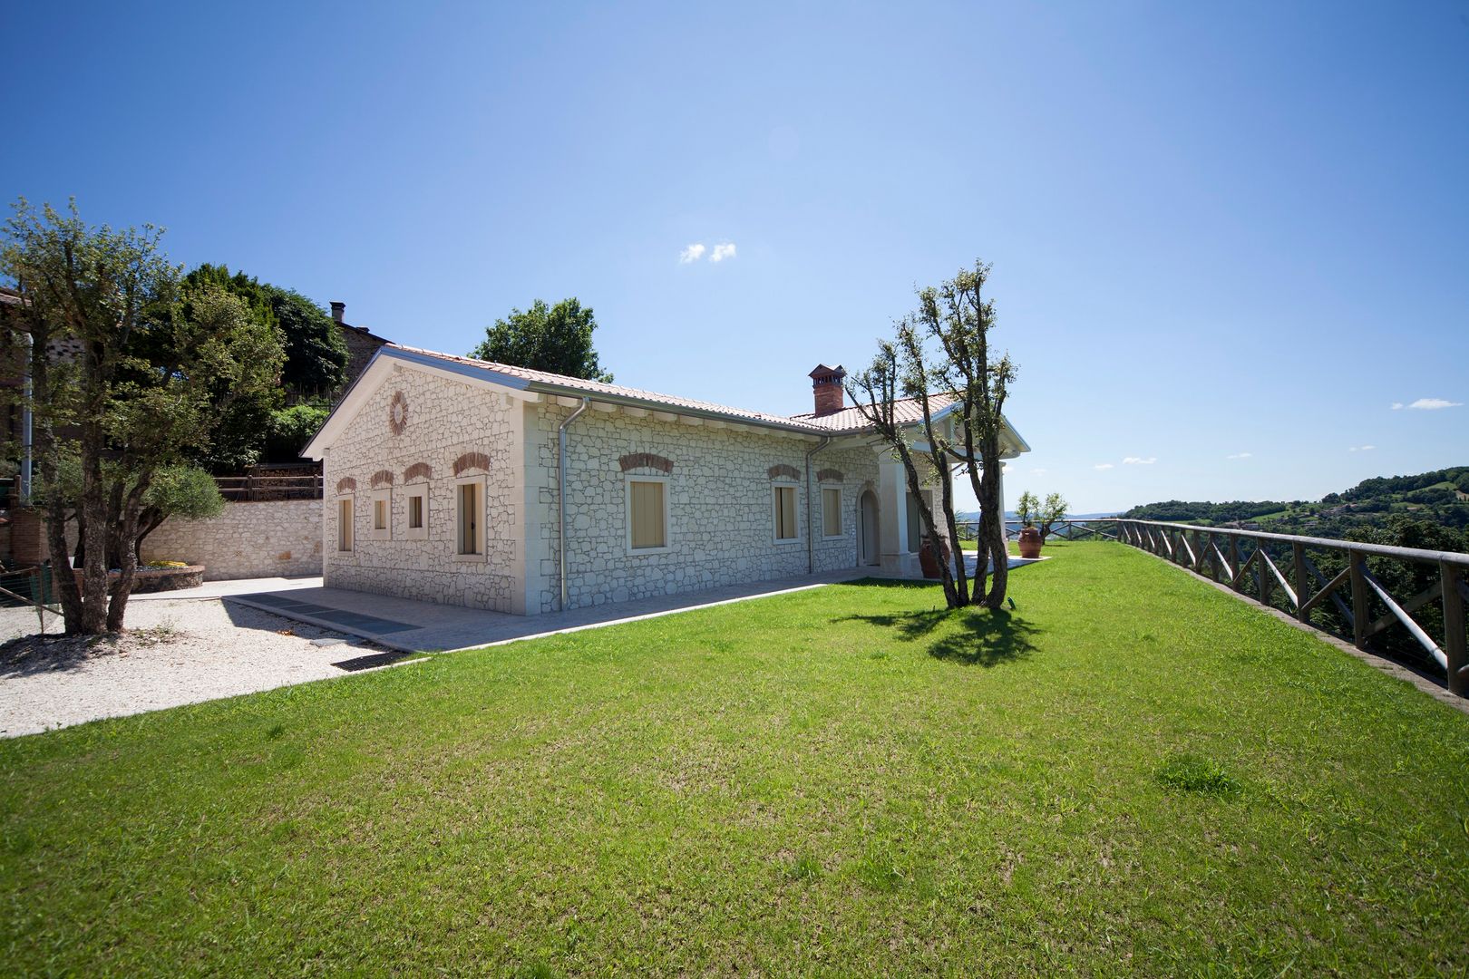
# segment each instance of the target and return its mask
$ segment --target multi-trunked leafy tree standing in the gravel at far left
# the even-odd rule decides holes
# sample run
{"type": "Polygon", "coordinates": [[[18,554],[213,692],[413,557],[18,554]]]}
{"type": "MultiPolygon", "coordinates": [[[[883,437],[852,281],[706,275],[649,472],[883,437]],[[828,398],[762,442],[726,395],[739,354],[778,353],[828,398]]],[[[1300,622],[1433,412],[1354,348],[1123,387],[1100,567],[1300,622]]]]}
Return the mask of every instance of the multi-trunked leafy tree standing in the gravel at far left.
{"type": "Polygon", "coordinates": [[[279,341],[242,299],[204,283],[184,302],[160,235],[90,228],[75,201],[63,216],[21,200],[6,222],[0,273],[19,292],[16,316],[32,339],[37,468],[50,487],[62,486],[63,462],[75,459],[79,473],[75,496],[46,496],[53,567],[69,564],[69,506],[85,549],[81,587],[56,578],[71,634],[122,630],[160,470],[209,445],[214,410],[281,376],[279,341]],[[110,600],[109,555],[120,572],[110,600]]]}

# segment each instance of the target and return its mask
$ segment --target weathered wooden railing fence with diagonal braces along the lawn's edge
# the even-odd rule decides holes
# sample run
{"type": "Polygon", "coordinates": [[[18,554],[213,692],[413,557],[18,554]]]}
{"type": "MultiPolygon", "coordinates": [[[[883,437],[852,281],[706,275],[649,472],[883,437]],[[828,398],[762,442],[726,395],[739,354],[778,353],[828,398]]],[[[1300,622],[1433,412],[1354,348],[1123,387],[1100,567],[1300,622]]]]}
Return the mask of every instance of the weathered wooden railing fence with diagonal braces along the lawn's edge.
{"type": "Polygon", "coordinates": [[[1469,697],[1469,555],[1147,520],[1114,521],[1141,547],[1357,649],[1443,671],[1469,697]],[[1437,637],[1443,637],[1443,646],[1437,637]]]}

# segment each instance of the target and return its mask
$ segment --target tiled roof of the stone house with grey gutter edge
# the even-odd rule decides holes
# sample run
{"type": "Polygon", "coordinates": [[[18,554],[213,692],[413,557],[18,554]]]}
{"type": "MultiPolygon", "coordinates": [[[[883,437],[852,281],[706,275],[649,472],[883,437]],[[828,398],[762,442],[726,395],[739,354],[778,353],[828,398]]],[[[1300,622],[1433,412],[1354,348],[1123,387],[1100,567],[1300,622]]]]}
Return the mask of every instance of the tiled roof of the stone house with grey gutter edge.
{"type": "MultiPolygon", "coordinates": [[[[748,408],[732,408],[729,405],[720,405],[710,401],[698,401],[695,398],[680,398],[677,395],[665,395],[655,390],[642,390],[639,387],[624,387],[623,385],[608,385],[599,380],[583,380],[580,377],[569,377],[566,374],[552,374],[544,370],[530,370],[529,367],[516,367],[514,364],[497,364],[494,361],[474,360],[472,357],[457,357],[454,354],[441,354],[438,351],[426,351],[417,346],[404,346],[401,343],[383,343],[378,352],[373,355],[372,364],[363,371],[361,377],[372,373],[372,367],[379,360],[395,360],[405,361],[410,364],[422,364],[425,367],[432,367],[438,370],[448,370],[461,377],[476,379],[486,383],[501,385],[505,387],[514,387],[519,390],[532,390],[538,393],[561,395],[570,398],[593,398],[596,401],[611,401],[618,404],[627,404],[632,407],[648,408],[651,411],[671,411],[679,414],[695,414],[707,418],[720,418],[727,421],[755,424],[770,429],[779,429],[784,432],[795,432],[801,434],[818,434],[818,436],[836,436],[836,434],[859,434],[862,432],[870,432],[871,426],[862,417],[858,408],[845,408],[826,415],[777,415],[765,411],[751,411],[748,408]]],[[[344,392],[336,408],[332,411],[332,417],[326,420],[322,429],[311,439],[311,443],[303,452],[303,455],[313,454],[316,442],[320,440],[323,434],[328,434],[329,429],[333,429],[333,420],[339,412],[348,408],[348,402],[357,393],[355,389],[358,377],[348,386],[344,392]]],[[[952,399],[948,396],[930,398],[930,405],[934,410],[934,417],[940,418],[952,410],[952,399]]],[[[912,398],[903,398],[895,405],[895,414],[900,424],[912,424],[923,421],[923,408],[912,398]]],[[[1028,452],[1030,446],[1019,433],[1006,421],[1005,424],[1008,434],[1012,436],[1015,452],[1028,452]]]]}

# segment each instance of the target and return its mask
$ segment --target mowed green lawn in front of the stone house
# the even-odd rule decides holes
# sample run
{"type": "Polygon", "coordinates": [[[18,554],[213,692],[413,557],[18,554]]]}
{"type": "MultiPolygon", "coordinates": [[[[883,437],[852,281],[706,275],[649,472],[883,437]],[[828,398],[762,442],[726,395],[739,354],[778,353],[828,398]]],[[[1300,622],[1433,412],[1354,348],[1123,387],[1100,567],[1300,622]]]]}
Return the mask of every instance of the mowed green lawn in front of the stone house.
{"type": "Polygon", "coordinates": [[[6,741],[6,972],[1463,970],[1469,718],[1047,553],[6,741]]]}

